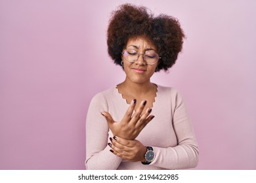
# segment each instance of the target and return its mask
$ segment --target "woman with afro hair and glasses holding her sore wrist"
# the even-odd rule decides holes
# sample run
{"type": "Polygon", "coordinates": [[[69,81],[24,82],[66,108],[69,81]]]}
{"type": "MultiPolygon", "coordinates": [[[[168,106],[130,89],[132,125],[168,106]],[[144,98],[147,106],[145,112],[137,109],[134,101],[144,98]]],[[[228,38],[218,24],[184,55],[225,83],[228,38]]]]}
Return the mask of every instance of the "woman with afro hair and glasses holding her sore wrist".
{"type": "Polygon", "coordinates": [[[175,18],[121,5],[108,27],[108,53],[125,80],[93,97],[86,125],[87,169],[187,169],[198,145],[182,97],[150,82],[182,49],[175,18]],[[153,115],[154,114],[154,115],[153,115]]]}

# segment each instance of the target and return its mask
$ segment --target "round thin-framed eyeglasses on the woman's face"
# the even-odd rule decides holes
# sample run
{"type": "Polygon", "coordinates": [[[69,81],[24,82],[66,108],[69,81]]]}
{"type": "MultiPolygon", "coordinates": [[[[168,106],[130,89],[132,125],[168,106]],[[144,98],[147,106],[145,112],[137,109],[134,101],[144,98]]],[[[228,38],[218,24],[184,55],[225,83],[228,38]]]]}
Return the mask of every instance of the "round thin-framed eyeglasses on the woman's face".
{"type": "Polygon", "coordinates": [[[125,50],[125,52],[122,52],[122,54],[125,60],[129,61],[130,63],[134,63],[135,61],[137,61],[140,55],[143,56],[144,61],[148,65],[154,65],[158,62],[158,59],[160,59],[158,54],[152,50],[146,51],[145,54],[139,54],[137,50],[127,49],[125,50]]]}

